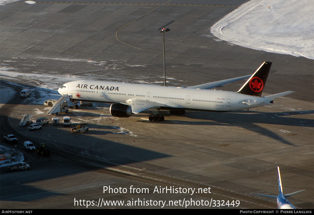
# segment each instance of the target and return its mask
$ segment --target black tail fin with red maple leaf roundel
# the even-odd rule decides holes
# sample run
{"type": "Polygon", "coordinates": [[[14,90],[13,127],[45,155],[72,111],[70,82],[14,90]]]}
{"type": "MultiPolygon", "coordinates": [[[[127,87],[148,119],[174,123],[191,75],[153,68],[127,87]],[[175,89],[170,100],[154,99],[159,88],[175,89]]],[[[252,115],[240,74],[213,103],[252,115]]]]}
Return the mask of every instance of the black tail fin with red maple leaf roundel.
{"type": "Polygon", "coordinates": [[[264,62],[256,72],[245,82],[238,91],[239,93],[250,96],[261,96],[264,89],[267,76],[272,66],[271,62],[264,62]]]}

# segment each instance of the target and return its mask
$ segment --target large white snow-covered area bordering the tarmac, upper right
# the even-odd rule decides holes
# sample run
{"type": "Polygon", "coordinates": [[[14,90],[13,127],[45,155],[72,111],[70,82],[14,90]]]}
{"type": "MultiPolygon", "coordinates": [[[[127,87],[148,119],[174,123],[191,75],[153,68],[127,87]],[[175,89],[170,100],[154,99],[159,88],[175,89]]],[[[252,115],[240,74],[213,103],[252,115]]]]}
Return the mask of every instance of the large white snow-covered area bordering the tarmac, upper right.
{"type": "Polygon", "coordinates": [[[211,27],[211,33],[247,48],[314,59],[312,0],[251,0],[211,27]]]}

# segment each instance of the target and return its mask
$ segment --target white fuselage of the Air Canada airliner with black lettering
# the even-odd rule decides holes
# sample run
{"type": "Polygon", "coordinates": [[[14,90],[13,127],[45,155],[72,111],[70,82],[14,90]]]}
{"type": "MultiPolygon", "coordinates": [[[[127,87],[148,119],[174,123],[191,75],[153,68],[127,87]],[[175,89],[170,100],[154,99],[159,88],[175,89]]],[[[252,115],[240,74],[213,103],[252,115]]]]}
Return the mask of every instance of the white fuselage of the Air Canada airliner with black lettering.
{"type": "Polygon", "coordinates": [[[163,104],[165,108],[206,111],[235,111],[268,105],[272,99],[237,92],[203,90],[184,87],[164,87],[107,81],[71,81],[59,88],[73,99],[92,102],[126,103],[131,99],[163,104]]]}

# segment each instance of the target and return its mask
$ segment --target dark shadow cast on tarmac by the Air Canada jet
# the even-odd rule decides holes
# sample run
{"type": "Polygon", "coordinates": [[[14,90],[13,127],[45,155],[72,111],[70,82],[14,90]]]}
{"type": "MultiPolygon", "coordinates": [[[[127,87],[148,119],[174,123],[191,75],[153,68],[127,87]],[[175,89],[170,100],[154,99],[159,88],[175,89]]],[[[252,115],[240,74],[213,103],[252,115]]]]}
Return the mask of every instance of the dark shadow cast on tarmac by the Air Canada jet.
{"type": "MultiPolygon", "coordinates": [[[[314,127],[313,119],[304,119],[304,118],[290,118],[286,116],[291,115],[302,115],[302,114],[311,114],[314,113],[314,110],[308,111],[288,111],[288,112],[279,112],[279,113],[264,113],[257,111],[238,111],[238,112],[228,112],[228,113],[218,113],[218,112],[186,112],[185,116],[192,119],[202,119],[204,121],[183,121],[183,120],[167,120],[162,122],[150,122],[148,120],[138,120],[138,122],[145,123],[163,123],[163,124],[182,124],[182,125],[219,125],[219,126],[237,126],[257,132],[262,135],[267,135],[275,140],[278,140],[284,144],[295,146],[293,143],[290,143],[286,139],[280,137],[278,134],[263,128],[257,123],[262,124],[273,124],[273,125],[289,125],[289,126],[300,126],[300,127],[314,127]],[[205,121],[210,120],[210,121],[205,121]]],[[[178,116],[180,119],[180,116],[178,116]]],[[[297,135],[297,133],[287,133],[286,135],[297,135]]]]}

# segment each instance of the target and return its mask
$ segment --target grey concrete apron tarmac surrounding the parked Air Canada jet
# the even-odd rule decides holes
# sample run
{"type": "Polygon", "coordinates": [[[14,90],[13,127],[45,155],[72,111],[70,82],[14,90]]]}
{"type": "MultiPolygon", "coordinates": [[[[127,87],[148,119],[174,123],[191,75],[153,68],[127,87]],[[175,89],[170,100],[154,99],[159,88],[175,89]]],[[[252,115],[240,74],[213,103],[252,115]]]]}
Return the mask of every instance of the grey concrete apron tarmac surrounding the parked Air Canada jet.
{"type": "MultiPolygon", "coordinates": [[[[56,83],[54,89],[66,75],[162,85],[159,29],[166,27],[171,29],[165,34],[168,86],[244,76],[270,61],[264,95],[295,93],[249,111],[187,111],[184,116],[161,111],[165,121],[160,123],[150,122],[149,112],[112,118],[108,105],[95,104],[69,112],[74,125],[89,123],[90,130],[83,134],[51,124],[34,132],[18,127],[21,113],[33,113],[34,119],[51,116],[46,115],[46,106],[27,105],[41,95],[35,93],[29,100],[17,95],[1,108],[1,134],[14,132],[19,141],[31,139],[35,145],[46,142],[51,155],[24,151],[29,154],[30,170],[1,170],[1,209],[86,207],[78,206],[83,204],[79,200],[94,201],[89,208],[99,208],[103,200],[125,201],[123,206],[103,208],[182,208],[183,202],[183,208],[219,208],[213,200],[229,200],[228,206],[224,203],[220,208],[276,208],[272,199],[250,193],[278,194],[277,165],[284,193],[306,189],[290,202],[298,208],[314,207],[313,60],[251,50],[215,38],[209,29],[238,6],[231,1],[188,4],[95,1],[1,6],[1,66],[9,71],[2,74],[1,85],[12,87],[6,82],[12,81],[43,88],[48,83],[42,77],[52,75],[56,78],[49,84],[56,83]],[[103,191],[109,185],[127,192],[103,191]],[[148,189],[132,191],[131,186],[148,189]],[[171,186],[181,187],[182,192],[155,191],[171,186]],[[188,188],[197,193],[191,195],[188,188]],[[202,200],[204,205],[197,205],[202,200]],[[138,205],[139,201],[144,204],[138,205]],[[161,207],[159,201],[167,203],[161,207]],[[191,206],[192,201],[196,205],[191,206]]],[[[237,91],[243,83],[217,89],[237,91]]],[[[18,148],[24,150],[22,144],[18,148]]]]}

